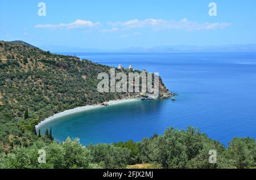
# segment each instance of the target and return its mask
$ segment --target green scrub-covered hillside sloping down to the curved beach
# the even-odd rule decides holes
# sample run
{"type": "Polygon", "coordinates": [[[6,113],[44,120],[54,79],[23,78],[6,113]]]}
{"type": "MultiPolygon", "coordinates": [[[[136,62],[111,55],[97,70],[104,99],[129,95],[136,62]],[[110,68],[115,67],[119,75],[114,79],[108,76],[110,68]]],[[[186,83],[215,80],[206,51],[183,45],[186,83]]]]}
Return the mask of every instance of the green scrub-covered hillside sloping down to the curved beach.
{"type": "MultiPolygon", "coordinates": [[[[109,73],[110,67],[85,59],[4,41],[0,41],[0,57],[0,143],[7,144],[6,149],[16,143],[14,137],[33,132],[37,123],[55,113],[138,96],[98,92],[97,75],[109,73]],[[26,110],[28,119],[24,119],[26,110]]],[[[167,92],[161,79],[160,91],[160,97],[167,92]]]]}

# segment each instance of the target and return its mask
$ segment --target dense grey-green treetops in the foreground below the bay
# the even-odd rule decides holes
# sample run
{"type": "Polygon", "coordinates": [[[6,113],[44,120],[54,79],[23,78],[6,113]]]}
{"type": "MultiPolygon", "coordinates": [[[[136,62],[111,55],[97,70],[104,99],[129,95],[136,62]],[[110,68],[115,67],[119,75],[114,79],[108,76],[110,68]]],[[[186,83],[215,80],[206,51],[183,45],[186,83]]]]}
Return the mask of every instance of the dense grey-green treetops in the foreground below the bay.
{"type": "Polygon", "coordinates": [[[164,135],[114,144],[82,146],[79,139],[58,144],[35,140],[30,147],[16,145],[11,153],[0,156],[0,168],[126,168],[150,163],[159,168],[253,168],[256,166],[256,142],[234,138],[228,149],[207,138],[195,128],[187,131],[168,128],[164,135]],[[46,163],[38,162],[38,150],[46,151],[46,163]],[[217,163],[210,164],[209,151],[217,152],[217,163]]]}

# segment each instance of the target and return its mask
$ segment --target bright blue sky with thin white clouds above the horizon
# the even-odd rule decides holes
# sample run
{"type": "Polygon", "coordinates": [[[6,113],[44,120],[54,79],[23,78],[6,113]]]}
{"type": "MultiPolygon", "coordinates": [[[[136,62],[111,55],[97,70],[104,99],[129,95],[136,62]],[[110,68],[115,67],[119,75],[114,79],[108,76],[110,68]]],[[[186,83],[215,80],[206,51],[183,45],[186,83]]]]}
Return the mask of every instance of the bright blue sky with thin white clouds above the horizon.
{"type": "Polygon", "coordinates": [[[256,43],[255,0],[1,1],[0,40],[122,49],[256,43]],[[38,3],[46,16],[38,16],[38,3]],[[217,16],[209,16],[216,2],[217,16]]]}

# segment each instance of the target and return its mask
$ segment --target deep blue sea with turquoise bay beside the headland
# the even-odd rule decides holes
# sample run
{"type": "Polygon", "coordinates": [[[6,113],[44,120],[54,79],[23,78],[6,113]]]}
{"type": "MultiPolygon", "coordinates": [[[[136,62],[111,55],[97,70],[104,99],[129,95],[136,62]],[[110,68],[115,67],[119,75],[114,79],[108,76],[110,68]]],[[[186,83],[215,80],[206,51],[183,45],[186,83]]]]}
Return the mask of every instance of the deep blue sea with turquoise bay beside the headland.
{"type": "Polygon", "coordinates": [[[68,115],[42,129],[51,126],[57,141],[69,136],[79,137],[84,145],[136,142],[171,126],[197,127],[226,146],[235,136],[256,138],[256,53],[76,55],[104,65],[159,72],[178,96],[176,101],[129,102],[68,115]]]}

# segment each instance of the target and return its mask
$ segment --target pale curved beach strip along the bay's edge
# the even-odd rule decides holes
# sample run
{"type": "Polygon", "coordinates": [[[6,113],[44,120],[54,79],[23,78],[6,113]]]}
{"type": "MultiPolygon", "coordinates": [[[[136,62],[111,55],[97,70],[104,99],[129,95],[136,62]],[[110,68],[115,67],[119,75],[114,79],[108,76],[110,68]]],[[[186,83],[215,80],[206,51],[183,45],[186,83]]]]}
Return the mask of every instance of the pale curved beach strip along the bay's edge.
{"type": "MultiPolygon", "coordinates": [[[[134,101],[139,101],[139,99],[129,98],[129,99],[122,99],[122,100],[112,100],[112,101],[108,101],[106,103],[108,103],[109,106],[112,106],[112,105],[117,105],[117,104],[123,104],[125,102],[134,102],[134,101]]],[[[81,107],[77,107],[74,109],[64,110],[64,112],[54,114],[51,117],[48,117],[48,118],[44,119],[43,121],[39,122],[38,125],[35,125],[35,128],[36,128],[36,131],[38,131],[39,128],[44,126],[46,123],[55,121],[57,118],[64,117],[65,115],[75,114],[75,113],[79,113],[79,112],[84,112],[86,110],[92,110],[92,109],[104,108],[104,107],[105,107],[104,105],[97,104],[97,105],[86,105],[86,106],[81,106],[81,107]]]]}

